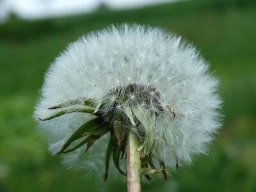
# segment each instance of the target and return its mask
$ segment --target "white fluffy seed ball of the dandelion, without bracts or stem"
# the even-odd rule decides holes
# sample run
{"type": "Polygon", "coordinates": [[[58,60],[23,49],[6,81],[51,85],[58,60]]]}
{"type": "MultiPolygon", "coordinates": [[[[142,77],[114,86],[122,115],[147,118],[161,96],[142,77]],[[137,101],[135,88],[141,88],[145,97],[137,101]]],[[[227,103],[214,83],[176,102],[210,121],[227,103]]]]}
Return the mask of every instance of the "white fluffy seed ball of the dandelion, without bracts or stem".
{"type": "MultiPolygon", "coordinates": [[[[52,115],[49,107],[70,99],[102,100],[116,88],[125,92],[129,84],[154,88],[150,98],[159,93],[161,116],[151,119],[150,141],[156,143],[152,152],[167,168],[175,168],[177,161],[191,163],[194,154],[206,152],[207,143],[221,126],[218,80],[209,74],[209,65],[192,45],[159,28],[122,25],[90,33],[70,44],[49,68],[34,116],[37,120],[52,115]]],[[[140,91],[140,86],[132,91],[130,102],[140,100],[136,98],[140,91]]],[[[159,111],[156,104],[147,102],[145,116],[150,108],[159,111]]],[[[49,150],[56,154],[90,118],[92,115],[70,113],[51,121],[38,120],[38,124],[47,133],[49,150]]],[[[83,146],[67,154],[63,163],[68,168],[104,170],[108,137],[100,138],[86,154],[83,146]]]]}

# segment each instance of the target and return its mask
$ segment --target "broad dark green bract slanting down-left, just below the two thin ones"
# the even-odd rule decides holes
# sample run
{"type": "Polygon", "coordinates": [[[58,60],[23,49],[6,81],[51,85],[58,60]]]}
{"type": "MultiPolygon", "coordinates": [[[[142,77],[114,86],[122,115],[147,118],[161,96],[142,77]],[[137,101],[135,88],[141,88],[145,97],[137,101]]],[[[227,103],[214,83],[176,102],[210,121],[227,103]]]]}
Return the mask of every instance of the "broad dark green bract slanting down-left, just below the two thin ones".
{"type": "MultiPolygon", "coordinates": [[[[91,134],[92,132],[97,131],[97,129],[99,129],[100,127],[102,127],[102,118],[96,117],[96,118],[93,118],[91,120],[88,120],[85,124],[81,125],[81,127],[79,127],[70,136],[70,138],[68,138],[68,140],[63,145],[63,147],[61,148],[59,153],[62,153],[73,141],[75,141],[79,138],[82,138],[83,136],[86,136],[88,134],[91,134]]],[[[84,141],[84,142],[87,142],[87,141],[84,141]]],[[[83,143],[83,144],[85,144],[85,143],[83,143]]]]}

